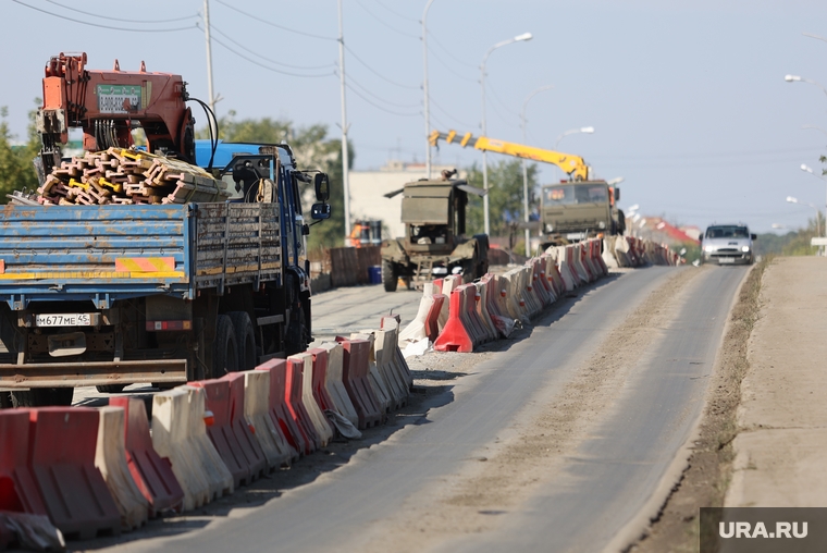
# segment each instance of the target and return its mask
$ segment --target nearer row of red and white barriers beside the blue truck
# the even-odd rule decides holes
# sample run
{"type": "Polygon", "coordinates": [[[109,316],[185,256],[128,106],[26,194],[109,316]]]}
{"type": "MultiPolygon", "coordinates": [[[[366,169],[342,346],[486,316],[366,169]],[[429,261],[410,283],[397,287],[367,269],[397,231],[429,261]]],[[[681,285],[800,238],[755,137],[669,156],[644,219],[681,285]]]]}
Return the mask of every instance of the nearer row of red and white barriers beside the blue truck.
{"type": "Polygon", "coordinates": [[[408,403],[398,333],[384,317],[378,330],[157,393],[151,421],[134,397],[0,410],[0,550],[32,528],[53,549],[118,536],[232,494],[337,433],[359,438],[408,403]]]}

